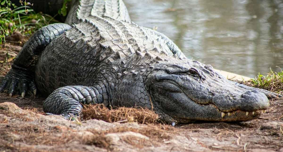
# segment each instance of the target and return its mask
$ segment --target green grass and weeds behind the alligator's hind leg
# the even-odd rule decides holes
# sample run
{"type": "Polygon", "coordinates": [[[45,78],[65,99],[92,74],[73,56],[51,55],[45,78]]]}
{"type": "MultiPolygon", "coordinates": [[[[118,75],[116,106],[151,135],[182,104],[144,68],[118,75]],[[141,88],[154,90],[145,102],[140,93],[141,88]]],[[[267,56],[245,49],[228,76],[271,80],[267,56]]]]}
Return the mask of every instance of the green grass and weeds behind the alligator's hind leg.
{"type": "Polygon", "coordinates": [[[20,2],[23,6],[17,7],[10,0],[3,0],[0,3],[0,44],[6,43],[5,37],[13,32],[30,35],[40,27],[59,22],[50,15],[35,13],[31,8],[33,4],[20,2]]]}

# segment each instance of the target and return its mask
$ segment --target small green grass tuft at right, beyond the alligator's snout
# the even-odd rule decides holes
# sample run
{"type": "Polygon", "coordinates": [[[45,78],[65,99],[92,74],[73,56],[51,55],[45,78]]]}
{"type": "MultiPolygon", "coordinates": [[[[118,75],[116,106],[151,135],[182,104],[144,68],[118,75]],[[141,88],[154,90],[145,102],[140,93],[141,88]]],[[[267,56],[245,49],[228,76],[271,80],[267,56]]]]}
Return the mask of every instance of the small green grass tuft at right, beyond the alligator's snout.
{"type": "Polygon", "coordinates": [[[282,94],[283,90],[283,71],[275,72],[270,69],[270,72],[267,73],[267,76],[263,76],[258,73],[258,76],[255,79],[251,80],[253,87],[262,88],[269,90],[271,92],[276,92],[282,94]]]}

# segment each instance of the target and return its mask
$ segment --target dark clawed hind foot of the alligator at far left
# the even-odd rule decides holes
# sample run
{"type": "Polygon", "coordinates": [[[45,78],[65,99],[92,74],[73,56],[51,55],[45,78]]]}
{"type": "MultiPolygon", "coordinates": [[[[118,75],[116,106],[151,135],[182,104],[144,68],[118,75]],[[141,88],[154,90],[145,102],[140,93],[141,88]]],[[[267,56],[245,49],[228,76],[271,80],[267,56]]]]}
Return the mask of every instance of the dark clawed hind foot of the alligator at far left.
{"type": "Polygon", "coordinates": [[[13,65],[12,69],[8,72],[0,84],[0,92],[7,88],[8,95],[11,97],[15,94],[18,86],[22,97],[25,97],[28,88],[34,95],[37,92],[33,75],[26,69],[13,65]]]}

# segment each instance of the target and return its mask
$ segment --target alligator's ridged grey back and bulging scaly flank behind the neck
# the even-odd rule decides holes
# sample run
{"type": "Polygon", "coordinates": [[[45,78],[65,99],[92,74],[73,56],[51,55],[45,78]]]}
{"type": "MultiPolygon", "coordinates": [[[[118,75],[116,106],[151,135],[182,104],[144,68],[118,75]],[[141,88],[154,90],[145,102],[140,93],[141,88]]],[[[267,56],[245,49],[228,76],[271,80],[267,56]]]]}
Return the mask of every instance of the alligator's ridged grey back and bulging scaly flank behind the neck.
{"type": "Polygon", "coordinates": [[[50,94],[68,85],[91,86],[99,79],[99,73],[103,76],[105,70],[110,71],[111,67],[104,63],[114,60],[117,52],[121,57],[119,60],[127,60],[129,55],[136,52],[151,53],[153,56],[173,55],[158,36],[135,23],[127,22],[127,10],[121,15],[121,10],[112,9],[110,12],[113,15],[108,16],[110,13],[106,2],[81,0],[80,5],[73,6],[77,13],[72,21],[77,23],[53,40],[38,60],[35,79],[41,92],[50,94]]]}

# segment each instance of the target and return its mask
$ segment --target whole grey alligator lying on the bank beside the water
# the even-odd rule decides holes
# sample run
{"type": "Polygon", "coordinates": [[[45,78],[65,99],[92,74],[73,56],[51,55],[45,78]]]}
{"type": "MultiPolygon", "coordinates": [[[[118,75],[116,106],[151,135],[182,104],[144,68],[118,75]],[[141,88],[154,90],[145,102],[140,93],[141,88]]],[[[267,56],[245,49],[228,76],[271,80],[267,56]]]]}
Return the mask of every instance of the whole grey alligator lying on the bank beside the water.
{"type": "Polygon", "coordinates": [[[47,114],[80,117],[82,104],[146,107],[161,120],[248,121],[282,95],[230,81],[189,60],[164,34],[133,23],[122,0],[76,0],[65,23],[39,29],[0,85],[48,96],[47,114]]]}

